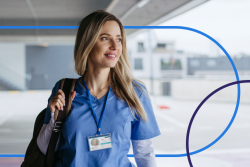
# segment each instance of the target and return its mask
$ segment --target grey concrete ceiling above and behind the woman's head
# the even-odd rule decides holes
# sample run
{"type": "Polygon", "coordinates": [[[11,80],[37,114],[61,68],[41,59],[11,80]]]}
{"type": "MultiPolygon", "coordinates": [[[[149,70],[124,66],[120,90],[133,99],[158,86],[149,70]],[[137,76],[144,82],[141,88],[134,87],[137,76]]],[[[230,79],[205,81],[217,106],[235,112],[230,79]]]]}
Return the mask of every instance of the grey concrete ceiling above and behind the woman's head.
{"type": "MultiPolygon", "coordinates": [[[[124,26],[157,25],[206,1],[0,0],[0,26],[78,26],[83,17],[99,9],[117,16],[124,26]],[[140,7],[143,3],[145,5],[140,7]]],[[[126,30],[126,34],[136,31],[126,30]]],[[[53,41],[54,37],[72,41],[75,35],[74,29],[0,29],[0,41],[53,41]]]]}

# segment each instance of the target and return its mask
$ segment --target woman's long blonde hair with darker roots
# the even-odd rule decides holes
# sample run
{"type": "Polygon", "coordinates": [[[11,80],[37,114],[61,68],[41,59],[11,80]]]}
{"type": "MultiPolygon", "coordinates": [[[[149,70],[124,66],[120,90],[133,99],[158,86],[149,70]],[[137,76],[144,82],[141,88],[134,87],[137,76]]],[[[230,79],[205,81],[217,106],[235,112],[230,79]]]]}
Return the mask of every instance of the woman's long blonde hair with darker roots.
{"type": "Polygon", "coordinates": [[[82,19],[77,31],[74,47],[75,71],[80,76],[83,76],[85,73],[88,55],[94,47],[100,35],[101,28],[106,21],[116,21],[119,24],[122,36],[121,56],[115,67],[110,68],[111,89],[118,99],[126,101],[134,118],[136,118],[135,115],[137,114],[146,122],[148,119],[147,114],[133,85],[146,95],[147,98],[149,96],[144,83],[133,76],[126,47],[125,30],[120,20],[114,15],[103,10],[98,10],[82,19]],[[143,87],[135,81],[142,84],[143,87]]]}

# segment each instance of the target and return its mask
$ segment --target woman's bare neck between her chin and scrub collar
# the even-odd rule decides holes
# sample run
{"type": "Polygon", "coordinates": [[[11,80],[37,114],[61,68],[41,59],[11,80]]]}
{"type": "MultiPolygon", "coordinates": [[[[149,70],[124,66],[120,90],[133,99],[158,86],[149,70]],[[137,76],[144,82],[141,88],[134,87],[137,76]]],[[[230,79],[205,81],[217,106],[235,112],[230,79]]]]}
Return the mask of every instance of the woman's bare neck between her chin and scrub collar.
{"type": "Polygon", "coordinates": [[[97,93],[100,90],[102,90],[109,83],[109,73],[110,73],[110,68],[105,68],[105,69],[88,68],[84,75],[84,81],[88,89],[94,93],[97,93]]]}

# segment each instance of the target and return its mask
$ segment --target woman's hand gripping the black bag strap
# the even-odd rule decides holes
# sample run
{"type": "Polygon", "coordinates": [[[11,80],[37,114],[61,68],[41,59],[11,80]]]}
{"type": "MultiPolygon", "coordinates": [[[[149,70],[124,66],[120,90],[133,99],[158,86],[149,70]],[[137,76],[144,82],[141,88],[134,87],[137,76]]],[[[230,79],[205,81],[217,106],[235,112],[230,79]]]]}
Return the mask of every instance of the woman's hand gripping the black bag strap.
{"type": "MultiPolygon", "coordinates": [[[[72,92],[72,100],[75,98],[76,91],[72,92]]],[[[57,115],[59,110],[63,110],[63,106],[65,106],[65,94],[61,89],[59,89],[54,97],[52,97],[49,101],[49,108],[51,113],[54,114],[54,119],[57,119],[57,115]]]]}

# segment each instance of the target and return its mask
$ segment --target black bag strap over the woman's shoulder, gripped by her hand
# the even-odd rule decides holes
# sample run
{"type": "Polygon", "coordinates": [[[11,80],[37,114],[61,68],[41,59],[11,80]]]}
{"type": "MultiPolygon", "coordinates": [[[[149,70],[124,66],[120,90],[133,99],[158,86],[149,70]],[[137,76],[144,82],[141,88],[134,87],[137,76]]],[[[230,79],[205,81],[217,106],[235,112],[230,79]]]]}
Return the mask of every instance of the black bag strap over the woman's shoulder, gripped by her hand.
{"type": "Polygon", "coordinates": [[[62,130],[63,124],[66,120],[66,117],[69,115],[72,104],[72,93],[75,88],[76,79],[62,79],[61,80],[61,89],[65,94],[65,106],[63,110],[59,110],[57,119],[54,124],[52,135],[50,137],[48,149],[45,157],[45,167],[54,167],[55,165],[55,148],[59,138],[59,134],[62,130]]]}

